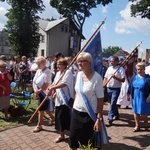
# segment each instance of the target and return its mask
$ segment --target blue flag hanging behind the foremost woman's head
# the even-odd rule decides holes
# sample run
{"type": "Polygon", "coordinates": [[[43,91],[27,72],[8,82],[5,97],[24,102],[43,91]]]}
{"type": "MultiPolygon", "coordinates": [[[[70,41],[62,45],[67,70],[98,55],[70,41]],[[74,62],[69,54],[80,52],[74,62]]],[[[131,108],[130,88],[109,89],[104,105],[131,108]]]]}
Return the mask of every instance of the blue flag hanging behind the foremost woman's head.
{"type": "Polygon", "coordinates": [[[102,65],[102,45],[100,31],[91,39],[91,42],[85,47],[84,52],[91,54],[93,58],[92,69],[103,76],[103,65],[102,65]]]}

